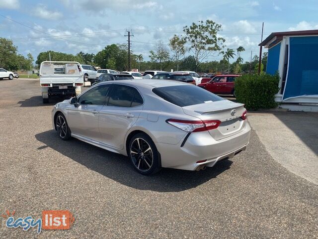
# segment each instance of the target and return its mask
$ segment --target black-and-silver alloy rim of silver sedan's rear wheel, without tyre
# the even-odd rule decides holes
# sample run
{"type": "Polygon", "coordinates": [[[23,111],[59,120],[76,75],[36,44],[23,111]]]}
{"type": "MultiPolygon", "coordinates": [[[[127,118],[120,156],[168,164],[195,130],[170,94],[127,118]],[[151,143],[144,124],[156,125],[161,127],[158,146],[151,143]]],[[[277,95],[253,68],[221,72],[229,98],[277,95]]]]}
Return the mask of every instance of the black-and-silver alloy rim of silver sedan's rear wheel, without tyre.
{"type": "Polygon", "coordinates": [[[136,138],[130,147],[130,155],[135,167],[147,172],[154,163],[154,154],[149,143],[143,138],[136,138]]]}

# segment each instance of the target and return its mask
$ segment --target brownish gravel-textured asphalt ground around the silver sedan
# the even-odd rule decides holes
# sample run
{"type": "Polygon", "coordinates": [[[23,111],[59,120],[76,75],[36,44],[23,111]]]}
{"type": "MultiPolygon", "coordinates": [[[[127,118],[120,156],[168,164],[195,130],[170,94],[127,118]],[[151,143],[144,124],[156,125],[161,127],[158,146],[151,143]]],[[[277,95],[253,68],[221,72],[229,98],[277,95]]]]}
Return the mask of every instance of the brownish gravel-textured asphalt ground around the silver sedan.
{"type": "Polygon", "coordinates": [[[317,238],[318,186],[247,150],[205,171],[135,172],[128,158],[62,141],[38,80],[0,81],[0,214],[70,210],[65,231],[5,227],[2,238],[317,238]]]}

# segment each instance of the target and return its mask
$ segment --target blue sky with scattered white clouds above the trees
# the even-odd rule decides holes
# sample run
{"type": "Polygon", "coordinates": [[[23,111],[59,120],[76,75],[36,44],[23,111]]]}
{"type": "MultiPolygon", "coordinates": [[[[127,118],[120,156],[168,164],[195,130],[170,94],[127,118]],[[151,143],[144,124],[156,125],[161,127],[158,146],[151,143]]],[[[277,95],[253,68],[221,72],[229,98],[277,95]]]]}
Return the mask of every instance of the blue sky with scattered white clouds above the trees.
{"type": "MultiPolygon", "coordinates": [[[[259,54],[262,22],[265,39],[276,31],[318,29],[317,12],[317,0],[0,0],[0,37],[36,59],[48,50],[96,54],[127,44],[131,30],[132,51],[149,60],[159,41],[168,48],[183,26],[210,19],[222,24],[218,35],[226,47],[243,46],[241,57],[249,61],[251,52],[259,54]]],[[[215,53],[206,60],[220,59],[215,53]]]]}

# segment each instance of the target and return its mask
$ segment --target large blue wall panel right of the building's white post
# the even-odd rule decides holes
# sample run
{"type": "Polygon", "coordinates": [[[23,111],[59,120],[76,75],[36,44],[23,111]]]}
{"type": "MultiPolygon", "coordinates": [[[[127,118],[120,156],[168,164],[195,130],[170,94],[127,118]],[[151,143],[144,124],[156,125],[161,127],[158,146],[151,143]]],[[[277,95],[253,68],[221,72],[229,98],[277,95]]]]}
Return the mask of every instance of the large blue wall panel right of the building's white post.
{"type": "Polygon", "coordinates": [[[289,49],[283,99],[318,95],[318,36],[290,37],[289,49]]]}

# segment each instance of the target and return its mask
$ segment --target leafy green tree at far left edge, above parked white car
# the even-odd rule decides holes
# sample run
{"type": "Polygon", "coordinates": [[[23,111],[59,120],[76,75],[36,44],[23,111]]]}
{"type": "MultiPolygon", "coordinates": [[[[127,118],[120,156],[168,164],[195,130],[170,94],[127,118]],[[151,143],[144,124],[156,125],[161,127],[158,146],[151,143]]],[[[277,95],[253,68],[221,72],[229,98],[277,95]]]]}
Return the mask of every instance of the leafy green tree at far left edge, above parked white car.
{"type": "Polygon", "coordinates": [[[0,67],[11,70],[10,66],[16,59],[17,47],[12,40],[0,37],[0,67]]]}

